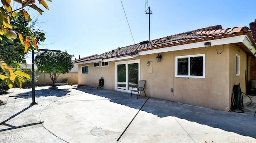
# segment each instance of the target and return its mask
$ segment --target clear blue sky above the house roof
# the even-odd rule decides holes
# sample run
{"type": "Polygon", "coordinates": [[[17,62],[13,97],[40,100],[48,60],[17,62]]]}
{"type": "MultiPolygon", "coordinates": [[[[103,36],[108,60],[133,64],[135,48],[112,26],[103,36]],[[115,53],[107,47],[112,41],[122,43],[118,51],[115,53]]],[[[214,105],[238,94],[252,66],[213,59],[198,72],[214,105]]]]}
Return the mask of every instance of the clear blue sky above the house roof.
{"type": "MultiPolygon", "coordinates": [[[[151,39],[158,39],[203,27],[249,27],[256,19],[256,0],[147,0],[151,39]]],[[[49,10],[38,16],[46,33],[41,49],[67,51],[73,59],[101,54],[148,40],[145,0],[52,0],[49,10]]],[[[29,11],[31,16],[37,12],[29,11]]],[[[27,58],[31,64],[31,56],[27,58]]]]}

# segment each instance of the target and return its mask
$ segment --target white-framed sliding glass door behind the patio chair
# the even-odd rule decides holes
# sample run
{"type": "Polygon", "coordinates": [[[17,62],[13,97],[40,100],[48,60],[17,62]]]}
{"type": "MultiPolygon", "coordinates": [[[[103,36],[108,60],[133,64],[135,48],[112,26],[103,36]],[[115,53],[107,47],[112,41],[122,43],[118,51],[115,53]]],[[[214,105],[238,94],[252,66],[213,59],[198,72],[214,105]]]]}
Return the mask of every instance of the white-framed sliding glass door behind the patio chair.
{"type": "Polygon", "coordinates": [[[140,80],[140,60],[116,62],[116,90],[130,92],[140,80]]]}

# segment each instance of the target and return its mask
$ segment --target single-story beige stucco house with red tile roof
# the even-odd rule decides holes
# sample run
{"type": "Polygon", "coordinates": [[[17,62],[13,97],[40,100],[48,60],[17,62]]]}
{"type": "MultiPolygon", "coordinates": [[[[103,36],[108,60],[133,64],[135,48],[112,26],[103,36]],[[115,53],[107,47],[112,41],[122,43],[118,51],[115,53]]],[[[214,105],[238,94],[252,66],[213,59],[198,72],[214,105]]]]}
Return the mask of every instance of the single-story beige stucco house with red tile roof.
{"type": "Polygon", "coordinates": [[[256,79],[255,39],[255,21],[250,29],[215,25],[76,59],[74,64],[78,84],[97,87],[103,76],[104,89],[130,93],[139,80],[146,80],[147,96],[230,111],[233,86],[240,84],[246,92],[246,84],[256,79]]]}

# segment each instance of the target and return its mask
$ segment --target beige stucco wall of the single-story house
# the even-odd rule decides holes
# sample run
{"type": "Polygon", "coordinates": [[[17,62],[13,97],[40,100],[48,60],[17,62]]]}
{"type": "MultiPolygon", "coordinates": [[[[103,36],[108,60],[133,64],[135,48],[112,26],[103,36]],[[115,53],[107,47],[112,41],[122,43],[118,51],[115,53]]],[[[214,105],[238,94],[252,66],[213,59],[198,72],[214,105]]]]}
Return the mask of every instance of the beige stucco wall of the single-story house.
{"type": "MultiPolygon", "coordinates": [[[[242,91],[245,91],[246,54],[242,50],[239,53],[236,45],[202,47],[161,55],[160,63],[156,62],[157,54],[128,59],[140,59],[140,80],[146,80],[147,96],[229,111],[233,85],[240,82],[242,91]],[[216,49],[219,53],[223,50],[222,54],[217,54],[216,49]],[[235,74],[236,53],[240,55],[240,76],[235,74]],[[175,77],[175,57],[195,54],[205,54],[205,78],[175,77]],[[152,73],[148,73],[147,61],[152,62],[152,73]]],[[[89,65],[89,74],[81,74],[81,66],[84,65],[79,65],[78,84],[97,87],[103,76],[104,89],[115,90],[115,62],[118,61],[109,62],[109,67],[96,68],[92,63],[84,64],[89,65]]]]}

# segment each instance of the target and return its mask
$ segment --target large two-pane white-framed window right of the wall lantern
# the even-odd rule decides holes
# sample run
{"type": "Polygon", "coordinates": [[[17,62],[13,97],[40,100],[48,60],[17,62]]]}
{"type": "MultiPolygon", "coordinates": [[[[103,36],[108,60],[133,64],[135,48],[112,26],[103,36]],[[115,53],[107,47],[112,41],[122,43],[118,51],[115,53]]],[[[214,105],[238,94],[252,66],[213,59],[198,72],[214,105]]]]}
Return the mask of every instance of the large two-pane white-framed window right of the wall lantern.
{"type": "Polygon", "coordinates": [[[204,78],[205,54],[176,57],[176,77],[204,78]]]}

